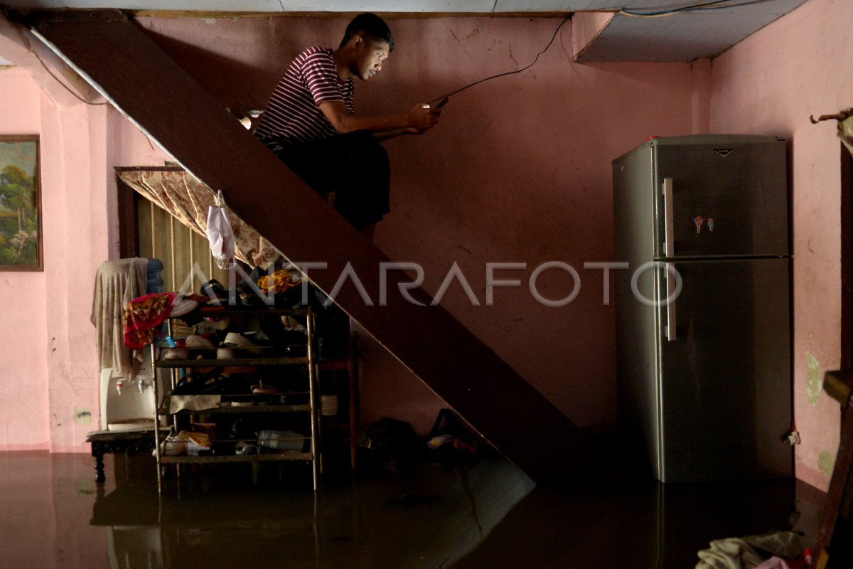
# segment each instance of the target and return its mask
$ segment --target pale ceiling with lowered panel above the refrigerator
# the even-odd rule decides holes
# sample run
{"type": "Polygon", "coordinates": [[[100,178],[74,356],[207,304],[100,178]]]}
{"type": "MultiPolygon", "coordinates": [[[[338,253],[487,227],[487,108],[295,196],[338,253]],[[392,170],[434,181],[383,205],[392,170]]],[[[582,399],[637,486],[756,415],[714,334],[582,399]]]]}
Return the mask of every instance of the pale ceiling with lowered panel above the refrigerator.
{"type": "Polygon", "coordinates": [[[614,12],[578,57],[577,61],[584,62],[693,61],[699,57],[713,57],[804,2],[806,0],[0,0],[15,9],[117,8],[144,12],[229,13],[231,16],[363,11],[394,15],[614,12]],[[669,17],[617,13],[619,9],[626,9],[658,14],[708,2],[713,5],[669,17]]]}

